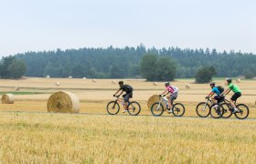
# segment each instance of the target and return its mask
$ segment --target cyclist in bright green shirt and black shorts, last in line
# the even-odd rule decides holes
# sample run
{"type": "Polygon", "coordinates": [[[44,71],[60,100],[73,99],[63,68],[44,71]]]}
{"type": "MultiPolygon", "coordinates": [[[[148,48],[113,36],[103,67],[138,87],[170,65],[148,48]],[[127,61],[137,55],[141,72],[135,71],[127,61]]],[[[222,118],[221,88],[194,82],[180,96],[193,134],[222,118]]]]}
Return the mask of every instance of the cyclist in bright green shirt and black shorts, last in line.
{"type": "Polygon", "coordinates": [[[234,95],[232,97],[230,97],[230,105],[233,108],[232,113],[236,113],[238,111],[238,109],[235,106],[235,101],[237,101],[238,97],[241,96],[241,90],[240,87],[238,87],[237,85],[232,83],[232,79],[231,78],[227,78],[227,83],[229,88],[227,90],[225,90],[223,93],[220,94],[220,96],[225,96],[228,95],[229,92],[232,90],[234,92],[234,95]]]}

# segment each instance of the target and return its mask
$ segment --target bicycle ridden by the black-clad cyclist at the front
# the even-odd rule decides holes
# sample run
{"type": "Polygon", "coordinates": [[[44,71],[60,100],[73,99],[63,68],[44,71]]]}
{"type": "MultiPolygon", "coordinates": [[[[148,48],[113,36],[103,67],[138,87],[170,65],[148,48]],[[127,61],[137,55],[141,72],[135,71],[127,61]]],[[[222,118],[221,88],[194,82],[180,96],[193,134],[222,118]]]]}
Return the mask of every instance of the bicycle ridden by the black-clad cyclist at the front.
{"type": "MultiPolygon", "coordinates": [[[[107,112],[110,115],[116,115],[120,110],[120,105],[119,104],[122,104],[122,106],[124,108],[123,100],[124,99],[121,98],[121,97],[116,97],[116,100],[110,101],[107,105],[107,112]]],[[[136,116],[141,112],[141,106],[136,101],[128,102],[127,108],[128,108],[127,111],[131,116],[136,116]]]]}

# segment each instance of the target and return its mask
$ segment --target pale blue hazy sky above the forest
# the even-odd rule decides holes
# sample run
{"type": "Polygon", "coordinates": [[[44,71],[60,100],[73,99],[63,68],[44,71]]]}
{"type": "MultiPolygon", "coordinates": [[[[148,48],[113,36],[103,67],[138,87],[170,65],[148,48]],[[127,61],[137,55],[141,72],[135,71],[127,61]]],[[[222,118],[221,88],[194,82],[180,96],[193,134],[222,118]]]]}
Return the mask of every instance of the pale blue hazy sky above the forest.
{"type": "Polygon", "coordinates": [[[0,0],[0,56],[81,47],[256,54],[255,0],[0,0]]]}

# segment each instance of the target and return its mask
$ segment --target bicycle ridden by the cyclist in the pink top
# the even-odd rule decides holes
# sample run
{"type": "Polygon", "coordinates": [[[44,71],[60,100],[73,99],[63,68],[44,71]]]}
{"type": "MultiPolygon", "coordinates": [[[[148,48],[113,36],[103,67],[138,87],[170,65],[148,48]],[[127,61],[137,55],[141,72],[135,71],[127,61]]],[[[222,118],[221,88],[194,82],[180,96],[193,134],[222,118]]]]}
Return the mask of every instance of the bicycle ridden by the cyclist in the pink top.
{"type": "MultiPolygon", "coordinates": [[[[159,116],[161,116],[164,113],[164,107],[163,107],[161,102],[164,102],[166,108],[169,108],[168,107],[168,99],[166,97],[164,97],[163,95],[161,95],[160,97],[161,97],[160,101],[154,103],[151,106],[151,113],[155,117],[159,117],[159,116]]],[[[182,117],[184,115],[184,113],[185,113],[185,107],[181,103],[173,104],[173,108],[171,109],[171,112],[173,113],[173,115],[175,117],[182,117]]]]}

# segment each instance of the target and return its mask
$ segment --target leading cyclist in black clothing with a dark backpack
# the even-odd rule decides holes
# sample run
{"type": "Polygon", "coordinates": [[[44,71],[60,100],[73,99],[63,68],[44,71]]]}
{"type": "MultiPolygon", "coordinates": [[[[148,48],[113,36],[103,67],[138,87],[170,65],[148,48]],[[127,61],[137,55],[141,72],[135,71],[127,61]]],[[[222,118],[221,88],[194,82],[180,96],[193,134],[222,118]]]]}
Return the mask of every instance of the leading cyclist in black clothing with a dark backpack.
{"type": "Polygon", "coordinates": [[[123,99],[124,99],[124,110],[123,110],[123,113],[127,112],[128,110],[128,102],[129,102],[129,99],[130,97],[133,97],[133,87],[129,86],[129,85],[124,85],[123,84],[123,81],[119,81],[118,82],[120,88],[116,91],[115,94],[113,94],[113,97],[115,97],[116,94],[118,94],[121,90],[121,93],[116,96],[116,97],[120,97],[122,94],[123,94],[123,91],[126,93],[123,95],[123,99]]]}

